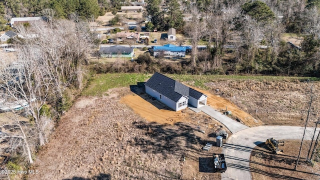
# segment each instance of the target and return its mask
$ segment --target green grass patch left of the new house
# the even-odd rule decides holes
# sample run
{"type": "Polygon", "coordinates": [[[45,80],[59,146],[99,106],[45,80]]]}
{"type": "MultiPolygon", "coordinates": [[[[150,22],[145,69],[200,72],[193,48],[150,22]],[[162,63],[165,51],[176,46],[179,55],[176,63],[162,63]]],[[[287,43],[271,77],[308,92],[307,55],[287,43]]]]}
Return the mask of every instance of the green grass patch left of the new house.
{"type": "Polygon", "coordinates": [[[137,73],[107,73],[97,74],[90,81],[82,95],[103,95],[108,89],[115,87],[129,87],[137,82],[144,82],[150,74],[137,73]]]}

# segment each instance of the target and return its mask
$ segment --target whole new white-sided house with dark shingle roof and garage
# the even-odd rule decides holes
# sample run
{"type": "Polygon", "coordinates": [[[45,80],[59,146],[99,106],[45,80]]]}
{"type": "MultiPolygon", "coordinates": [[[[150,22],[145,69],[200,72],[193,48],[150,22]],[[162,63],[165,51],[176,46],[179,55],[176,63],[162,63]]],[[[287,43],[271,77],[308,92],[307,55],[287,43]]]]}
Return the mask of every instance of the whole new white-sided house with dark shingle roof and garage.
{"type": "Polygon", "coordinates": [[[175,111],[186,108],[188,104],[194,107],[206,105],[207,95],[158,72],[144,86],[147,94],[175,111]]]}

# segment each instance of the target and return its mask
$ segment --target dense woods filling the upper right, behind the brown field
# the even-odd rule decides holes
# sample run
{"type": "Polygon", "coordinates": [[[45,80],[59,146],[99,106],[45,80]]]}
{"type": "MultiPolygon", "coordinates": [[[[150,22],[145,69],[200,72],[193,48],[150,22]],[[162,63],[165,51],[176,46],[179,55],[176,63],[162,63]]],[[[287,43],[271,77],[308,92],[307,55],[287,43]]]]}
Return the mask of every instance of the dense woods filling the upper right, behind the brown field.
{"type": "Polygon", "coordinates": [[[174,27],[192,46],[202,41],[208,47],[192,49],[188,72],[320,75],[319,0],[160,2],[147,0],[147,29],[174,27]],[[283,33],[298,36],[300,46],[283,41],[283,33]]]}

